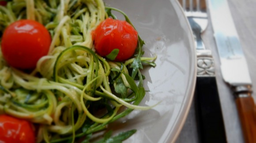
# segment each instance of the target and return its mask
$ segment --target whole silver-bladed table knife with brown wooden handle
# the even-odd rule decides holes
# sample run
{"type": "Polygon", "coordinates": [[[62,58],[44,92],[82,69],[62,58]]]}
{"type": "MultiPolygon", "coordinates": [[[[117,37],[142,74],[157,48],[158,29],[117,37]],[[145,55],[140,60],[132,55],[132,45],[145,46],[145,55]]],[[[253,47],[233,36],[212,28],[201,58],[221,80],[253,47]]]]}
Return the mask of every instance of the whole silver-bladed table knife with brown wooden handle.
{"type": "Polygon", "coordinates": [[[228,2],[208,2],[222,77],[234,92],[245,142],[256,143],[256,107],[251,95],[252,81],[228,2]]]}

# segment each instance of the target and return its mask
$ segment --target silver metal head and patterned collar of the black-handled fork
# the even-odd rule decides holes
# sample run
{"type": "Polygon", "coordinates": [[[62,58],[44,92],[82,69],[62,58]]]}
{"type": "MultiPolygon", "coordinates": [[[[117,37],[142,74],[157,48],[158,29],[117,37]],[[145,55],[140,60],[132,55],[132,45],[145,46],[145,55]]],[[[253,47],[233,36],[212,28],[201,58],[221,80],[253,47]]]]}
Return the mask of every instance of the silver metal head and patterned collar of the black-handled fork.
{"type": "Polygon", "coordinates": [[[215,66],[211,51],[203,44],[202,33],[208,25],[205,0],[179,0],[194,35],[197,53],[197,75],[215,76],[215,66]]]}

